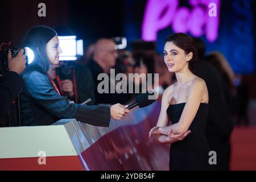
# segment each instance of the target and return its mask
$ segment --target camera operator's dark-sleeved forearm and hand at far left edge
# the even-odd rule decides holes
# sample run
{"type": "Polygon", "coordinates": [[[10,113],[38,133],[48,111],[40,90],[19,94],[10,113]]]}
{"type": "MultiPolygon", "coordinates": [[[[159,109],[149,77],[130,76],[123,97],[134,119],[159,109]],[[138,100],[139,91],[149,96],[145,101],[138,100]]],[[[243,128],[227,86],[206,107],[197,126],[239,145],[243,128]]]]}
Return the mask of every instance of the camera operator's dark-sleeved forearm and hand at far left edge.
{"type": "Polygon", "coordinates": [[[9,111],[11,104],[22,90],[24,81],[20,73],[26,68],[26,55],[23,55],[24,49],[20,49],[18,55],[11,57],[11,51],[8,52],[8,68],[5,80],[0,84],[0,115],[3,116],[9,111]]]}

